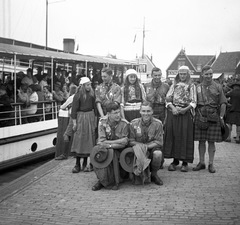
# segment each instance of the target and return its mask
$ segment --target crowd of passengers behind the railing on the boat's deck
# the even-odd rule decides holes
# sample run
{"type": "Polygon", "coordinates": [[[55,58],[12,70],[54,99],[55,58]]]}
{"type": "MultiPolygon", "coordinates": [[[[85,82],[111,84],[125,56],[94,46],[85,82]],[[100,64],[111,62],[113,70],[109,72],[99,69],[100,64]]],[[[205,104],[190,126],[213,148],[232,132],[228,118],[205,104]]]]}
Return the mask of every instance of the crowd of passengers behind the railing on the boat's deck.
{"type": "MultiPolygon", "coordinates": [[[[76,75],[58,67],[52,82],[51,74],[43,73],[41,67],[36,74],[28,68],[26,73],[16,73],[16,96],[11,76],[0,80],[0,127],[57,118],[60,105],[72,95],[70,87],[78,86],[83,76],[84,72],[76,75]]],[[[99,71],[92,81],[95,87],[102,82],[99,71]]]]}

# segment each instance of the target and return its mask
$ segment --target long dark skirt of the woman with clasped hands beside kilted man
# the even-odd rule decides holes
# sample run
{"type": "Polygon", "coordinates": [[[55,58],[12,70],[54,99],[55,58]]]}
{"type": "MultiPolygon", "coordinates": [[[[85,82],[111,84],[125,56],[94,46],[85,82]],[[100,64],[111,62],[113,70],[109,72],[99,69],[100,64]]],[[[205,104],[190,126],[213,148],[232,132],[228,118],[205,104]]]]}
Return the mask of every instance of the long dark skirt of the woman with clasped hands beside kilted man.
{"type": "Polygon", "coordinates": [[[168,110],[164,128],[163,153],[165,158],[193,162],[194,137],[193,120],[190,111],[174,116],[168,110]]]}

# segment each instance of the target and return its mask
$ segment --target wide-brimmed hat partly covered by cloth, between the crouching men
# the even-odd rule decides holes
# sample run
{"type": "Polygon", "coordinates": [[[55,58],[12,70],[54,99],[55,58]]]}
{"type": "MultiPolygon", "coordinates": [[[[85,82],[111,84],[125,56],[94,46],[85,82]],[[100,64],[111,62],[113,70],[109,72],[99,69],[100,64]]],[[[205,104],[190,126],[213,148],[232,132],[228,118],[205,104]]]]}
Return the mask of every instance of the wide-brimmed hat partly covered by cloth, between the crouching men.
{"type": "Polygon", "coordinates": [[[125,148],[120,154],[120,165],[129,172],[133,172],[134,151],[133,148],[125,148]]]}

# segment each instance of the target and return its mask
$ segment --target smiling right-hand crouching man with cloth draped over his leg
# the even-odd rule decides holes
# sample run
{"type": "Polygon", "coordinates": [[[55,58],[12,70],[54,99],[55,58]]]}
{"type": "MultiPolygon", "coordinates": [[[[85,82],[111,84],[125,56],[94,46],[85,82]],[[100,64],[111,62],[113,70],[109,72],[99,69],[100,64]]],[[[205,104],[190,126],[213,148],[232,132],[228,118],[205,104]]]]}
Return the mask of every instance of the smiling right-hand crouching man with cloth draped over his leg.
{"type": "MultiPolygon", "coordinates": [[[[150,102],[143,102],[140,108],[141,118],[130,123],[129,145],[134,151],[133,175],[134,182],[163,185],[157,172],[163,163],[163,126],[162,122],[153,117],[150,102]],[[137,179],[136,179],[137,178],[137,179]]],[[[121,161],[120,161],[121,162],[121,161]]]]}

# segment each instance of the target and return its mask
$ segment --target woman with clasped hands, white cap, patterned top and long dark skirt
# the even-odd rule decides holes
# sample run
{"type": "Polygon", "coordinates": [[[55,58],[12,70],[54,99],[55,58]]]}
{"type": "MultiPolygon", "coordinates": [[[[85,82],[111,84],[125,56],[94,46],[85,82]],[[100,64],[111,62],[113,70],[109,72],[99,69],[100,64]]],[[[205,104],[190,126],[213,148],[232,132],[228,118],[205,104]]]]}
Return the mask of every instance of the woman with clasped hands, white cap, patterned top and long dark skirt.
{"type": "Polygon", "coordinates": [[[165,158],[173,158],[169,171],[175,171],[182,161],[181,171],[188,171],[194,157],[193,110],[196,107],[196,87],[190,70],[181,66],[166,96],[167,118],[164,128],[163,151],[165,158]]]}

